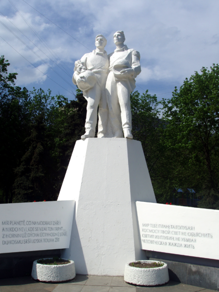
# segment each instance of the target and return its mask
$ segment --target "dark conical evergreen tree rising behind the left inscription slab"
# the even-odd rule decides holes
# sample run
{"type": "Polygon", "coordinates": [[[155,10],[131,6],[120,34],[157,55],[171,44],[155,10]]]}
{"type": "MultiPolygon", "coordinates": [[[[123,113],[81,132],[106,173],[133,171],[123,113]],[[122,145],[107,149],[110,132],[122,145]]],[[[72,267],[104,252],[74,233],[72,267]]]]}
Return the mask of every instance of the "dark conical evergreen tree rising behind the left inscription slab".
{"type": "Polygon", "coordinates": [[[16,169],[17,179],[14,183],[15,201],[51,201],[55,200],[54,160],[49,147],[49,137],[41,113],[31,125],[31,135],[25,139],[27,152],[16,169]]]}

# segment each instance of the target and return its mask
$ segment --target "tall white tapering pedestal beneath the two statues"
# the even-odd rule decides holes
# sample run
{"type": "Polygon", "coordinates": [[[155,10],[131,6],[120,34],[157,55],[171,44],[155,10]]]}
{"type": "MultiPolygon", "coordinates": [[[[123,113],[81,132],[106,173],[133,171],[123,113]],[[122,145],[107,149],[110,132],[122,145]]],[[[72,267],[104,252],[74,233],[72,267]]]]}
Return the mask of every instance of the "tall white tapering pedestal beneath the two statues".
{"type": "Polygon", "coordinates": [[[70,248],[77,274],[123,275],[144,259],[135,201],[156,202],[138,141],[77,141],[58,200],[75,200],[70,248]]]}

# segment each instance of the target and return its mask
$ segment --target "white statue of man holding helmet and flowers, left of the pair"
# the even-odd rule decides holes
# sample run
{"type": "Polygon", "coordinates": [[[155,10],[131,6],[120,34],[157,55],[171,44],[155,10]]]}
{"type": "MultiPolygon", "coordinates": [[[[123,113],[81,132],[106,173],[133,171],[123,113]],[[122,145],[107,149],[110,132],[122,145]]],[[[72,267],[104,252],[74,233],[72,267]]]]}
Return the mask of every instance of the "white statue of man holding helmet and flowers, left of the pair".
{"type": "Polygon", "coordinates": [[[96,50],[83,55],[75,62],[73,84],[83,91],[88,101],[85,134],[81,139],[94,137],[99,105],[98,138],[105,137],[108,121],[108,105],[106,100],[106,81],[109,73],[109,59],[104,50],[107,40],[103,35],[95,38],[96,50]]]}

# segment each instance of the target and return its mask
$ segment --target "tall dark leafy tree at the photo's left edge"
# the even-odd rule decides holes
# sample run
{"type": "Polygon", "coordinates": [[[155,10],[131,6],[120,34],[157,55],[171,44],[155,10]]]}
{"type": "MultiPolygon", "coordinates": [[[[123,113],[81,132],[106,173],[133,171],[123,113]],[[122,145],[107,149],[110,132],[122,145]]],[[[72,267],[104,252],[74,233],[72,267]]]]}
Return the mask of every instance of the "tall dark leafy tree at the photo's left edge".
{"type": "Polygon", "coordinates": [[[15,86],[17,73],[7,72],[10,64],[0,57],[0,203],[12,202],[14,169],[23,155],[28,132],[29,94],[15,86]]]}

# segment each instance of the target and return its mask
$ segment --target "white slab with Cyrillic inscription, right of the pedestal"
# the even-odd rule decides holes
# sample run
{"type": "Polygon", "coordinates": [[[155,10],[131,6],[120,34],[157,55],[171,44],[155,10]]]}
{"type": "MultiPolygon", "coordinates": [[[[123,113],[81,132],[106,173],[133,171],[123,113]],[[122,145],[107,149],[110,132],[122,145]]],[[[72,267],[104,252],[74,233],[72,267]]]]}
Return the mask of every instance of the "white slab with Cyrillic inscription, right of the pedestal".
{"type": "Polygon", "coordinates": [[[219,259],[219,210],[136,202],[143,250],[219,259]]]}

